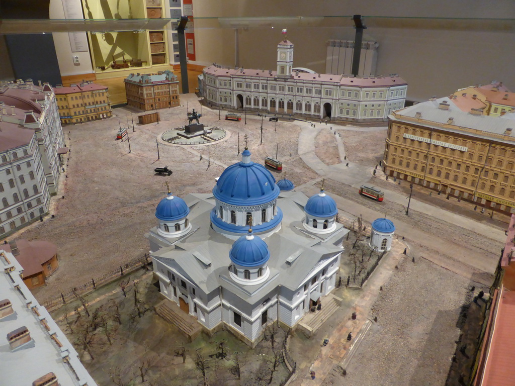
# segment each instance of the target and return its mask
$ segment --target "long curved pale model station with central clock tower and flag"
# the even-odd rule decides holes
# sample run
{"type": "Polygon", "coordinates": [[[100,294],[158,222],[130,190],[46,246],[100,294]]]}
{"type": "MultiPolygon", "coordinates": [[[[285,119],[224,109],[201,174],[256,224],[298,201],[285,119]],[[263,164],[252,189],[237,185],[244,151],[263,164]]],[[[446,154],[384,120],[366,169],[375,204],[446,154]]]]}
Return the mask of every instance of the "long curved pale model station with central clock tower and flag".
{"type": "Polygon", "coordinates": [[[399,75],[354,77],[316,74],[294,67],[294,45],[277,45],[277,69],[230,68],[212,64],[199,76],[206,101],[222,109],[295,114],[312,119],[384,121],[404,107],[407,83],[399,75]]]}

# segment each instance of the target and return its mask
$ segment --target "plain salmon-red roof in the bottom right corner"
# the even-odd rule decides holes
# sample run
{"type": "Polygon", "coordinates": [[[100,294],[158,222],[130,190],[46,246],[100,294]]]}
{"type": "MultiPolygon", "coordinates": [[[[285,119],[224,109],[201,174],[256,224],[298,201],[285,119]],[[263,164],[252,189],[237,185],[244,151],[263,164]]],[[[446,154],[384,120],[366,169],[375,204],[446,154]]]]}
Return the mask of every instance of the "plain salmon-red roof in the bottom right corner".
{"type": "Polygon", "coordinates": [[[503,287],[500,296],[483,375],[482,384],[485,386],[513,386],[515,384],[515,372],[512,369],[515,357],[515,344],[513,344],[515,291],[508,291],[503,287]]]}

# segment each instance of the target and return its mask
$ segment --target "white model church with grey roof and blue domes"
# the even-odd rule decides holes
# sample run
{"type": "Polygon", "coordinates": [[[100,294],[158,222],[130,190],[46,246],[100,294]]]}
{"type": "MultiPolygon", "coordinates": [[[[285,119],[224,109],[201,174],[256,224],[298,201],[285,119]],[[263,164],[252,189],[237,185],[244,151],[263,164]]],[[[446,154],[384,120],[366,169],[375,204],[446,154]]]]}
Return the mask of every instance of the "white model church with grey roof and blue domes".
{"type": "Polygon", "coordinates": [[[171,192],[146,237],[161,293],[208,333],[250,345],[266,324],[295,326],[336,282],[342,240],[335,201],[276,180],[245,148],[211,194],[171,192]]]}

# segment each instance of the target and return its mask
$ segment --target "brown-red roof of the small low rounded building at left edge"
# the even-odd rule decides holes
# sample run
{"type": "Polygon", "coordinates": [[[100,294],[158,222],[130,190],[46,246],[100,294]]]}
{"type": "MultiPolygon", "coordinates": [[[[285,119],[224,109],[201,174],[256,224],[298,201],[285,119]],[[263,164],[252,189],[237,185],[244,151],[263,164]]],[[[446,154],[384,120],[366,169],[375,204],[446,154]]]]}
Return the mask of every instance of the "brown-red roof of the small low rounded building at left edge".
{"type": "MultiPolygon", "coordinates": [[[[28,277],[43,271],[43,264],[57,254],[56,244],[49,241],[40,241],[27,239],[16,240],[19,255],[16,260],[23,267],[23,276],[28,277]]],[[[9,244],[2,245],[2,249],[11,252],[9,244]]]]}

